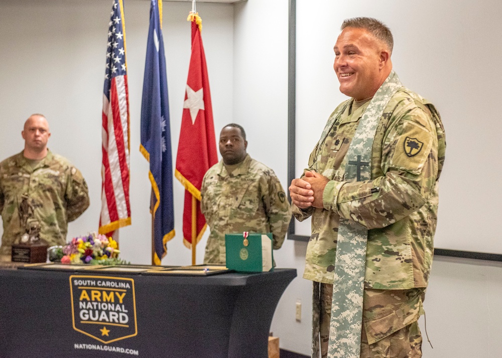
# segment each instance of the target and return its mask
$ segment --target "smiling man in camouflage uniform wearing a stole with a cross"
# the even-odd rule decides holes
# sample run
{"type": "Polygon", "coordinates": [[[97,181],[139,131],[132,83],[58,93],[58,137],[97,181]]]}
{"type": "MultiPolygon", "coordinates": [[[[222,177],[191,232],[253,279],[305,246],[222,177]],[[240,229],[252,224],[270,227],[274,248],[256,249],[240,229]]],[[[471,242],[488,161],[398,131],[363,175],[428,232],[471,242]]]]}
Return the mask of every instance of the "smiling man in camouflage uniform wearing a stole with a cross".
{"type": "Polygon", "coordinates": [[[320,335],[322,357],[421,357],[417,321],[434,250],[444,128],[434,106],[392,70],[387,26],[355,18],[341,30],[333,67],[351,98],[331,114],[309,167],[289,188],[295,217],[312,216],[304,273],[314,281],[312,356],[320,335]],[[342,243],[359,246],[340,252],[342,243]],[[341,279],[358,260],[361,280],[341,279]],[[345,301],[361,314],[340,311],[345,301]]]}

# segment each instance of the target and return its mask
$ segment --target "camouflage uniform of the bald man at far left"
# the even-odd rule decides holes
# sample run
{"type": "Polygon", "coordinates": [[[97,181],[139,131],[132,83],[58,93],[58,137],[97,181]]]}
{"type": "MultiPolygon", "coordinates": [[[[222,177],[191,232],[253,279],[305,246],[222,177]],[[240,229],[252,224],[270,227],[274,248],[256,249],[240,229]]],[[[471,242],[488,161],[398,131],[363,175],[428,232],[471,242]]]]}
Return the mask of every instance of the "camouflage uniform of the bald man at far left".
{"type": "Polygon", "coordinates": [[[40,224],[41,242],[49,246],[66,243],[68,222],[89,206],[87,184],[82,173],[64,157],[51,151],[32,168],[23,152],[0,163],[0,213],[4,235],[0,254],[10,256],[12,244],[20,242],[19,203],[27,194],[33,219],[40,224]]]}

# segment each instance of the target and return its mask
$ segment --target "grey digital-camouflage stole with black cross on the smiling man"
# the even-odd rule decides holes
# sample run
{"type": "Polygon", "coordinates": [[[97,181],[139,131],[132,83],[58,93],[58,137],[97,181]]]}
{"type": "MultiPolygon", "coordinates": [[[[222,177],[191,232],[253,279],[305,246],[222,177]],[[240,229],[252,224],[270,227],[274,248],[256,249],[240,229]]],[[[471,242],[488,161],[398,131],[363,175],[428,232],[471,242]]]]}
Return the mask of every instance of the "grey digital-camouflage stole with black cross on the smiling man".
{"type": "MultiPolygon", "coordinates": [[[[371,149],[385,107],[401,87],[392,71],[364,111],[344,157],[344,181],[371,179],[371,149]],[[349,165],[349,161],[361,165],[349,165]]],[[[333,300],[329,329],[328,358],[359,358],[362,300],[368,231],[353,220],[340,218],[336,244],[333,300]]]]}

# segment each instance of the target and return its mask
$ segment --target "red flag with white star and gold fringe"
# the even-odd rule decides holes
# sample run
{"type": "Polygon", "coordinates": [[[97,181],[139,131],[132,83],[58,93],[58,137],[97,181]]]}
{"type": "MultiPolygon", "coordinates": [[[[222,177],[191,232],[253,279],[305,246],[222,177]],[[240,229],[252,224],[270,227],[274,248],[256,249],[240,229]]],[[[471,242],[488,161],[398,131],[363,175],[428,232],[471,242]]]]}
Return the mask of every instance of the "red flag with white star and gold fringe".
{"type": "Polygon", "coordinates": [[[192,22],[192,55],[183,104],[180,141],[176,157],[175,175],[185,187],[185,209],[183,212],[183,243],[192,247],[192,196],[196,205],[196,242],[199,242],[206,228],[206,220],[200,211],[200,187],[202,178],[213,164],[218,162],[214,136],[211,94],[207,77],[206,57],[202,47],[200,29],[202,21],[197,14],[190,13],[192,22]]]}

